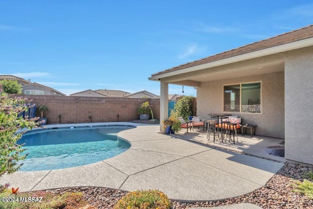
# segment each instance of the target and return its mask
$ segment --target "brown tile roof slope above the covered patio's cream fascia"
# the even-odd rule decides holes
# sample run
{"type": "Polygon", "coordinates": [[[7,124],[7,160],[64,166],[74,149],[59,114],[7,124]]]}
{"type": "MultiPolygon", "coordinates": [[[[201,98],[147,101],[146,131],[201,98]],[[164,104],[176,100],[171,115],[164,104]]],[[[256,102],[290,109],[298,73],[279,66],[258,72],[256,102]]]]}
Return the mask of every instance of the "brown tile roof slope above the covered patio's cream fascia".
{"type": "Polygon", "coordinates": [[[258,51],[258,50],[270,48],[273,46],[284,45],[284,44],[288,44],[291,42],[296,42],[296,41],[300,41],[300,40],[304,40],[304,39],[308,39],[312,37],[313,37],[313,25],[309,25],[304,28],[300,28],[297,30],[290,31],[288,33],[274,36],[272,38],[268,38],[266,40],[255,42],[246,46],[241,46],[239,48],[235,48],[229,51],[224,51],[222,53],[209,56],[200,60],[195,60],[193,62],[186,63],[186,64],[183,64],[183,65],[171,68],[171,69],[159,71],[157,73],[152,74],[152,76],[156,76],[159,74],[164,74],[164,73],[172,72],[176,70],[186,69],[186,68],[190,68],[190,67],[194,67],[194,66],[198,66],[198,65],[218,61],[218,60],[223,60],[229,57],[234,57],[234,56],[250,53],[253,51],[258,51]]]}

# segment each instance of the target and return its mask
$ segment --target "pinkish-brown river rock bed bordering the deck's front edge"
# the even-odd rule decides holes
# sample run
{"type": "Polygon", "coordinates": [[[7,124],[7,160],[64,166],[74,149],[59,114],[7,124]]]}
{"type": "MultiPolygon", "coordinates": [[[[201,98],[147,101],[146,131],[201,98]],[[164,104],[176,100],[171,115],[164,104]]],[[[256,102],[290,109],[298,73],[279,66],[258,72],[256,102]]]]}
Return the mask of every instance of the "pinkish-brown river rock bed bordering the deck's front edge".
{"type": "MultiPolygon", "coordinates": [[[[303,181],[303,174],[313,171],[313,167],[300,164],[285,163],[285,165],[268,181],[268,183],[245,195],[217,202],[206,201],[196,203],[172,202],[173,209],[188,209],[191,207],[217,207],[237,203],[252,203],[266,209],[313,209],[313,200],[294,192],[295,181],[303,181]]],[[[312,179],[309,179],[313,181],[312,179]]],[[[222,188],[221,188],[222,189],[222,188]]],[[[49,190],[53,193],[81,191],[84,199],[98,209],[112,209],[117,201],[127,192],[118,189],[99,187],[71,187],[49,190]]]]}

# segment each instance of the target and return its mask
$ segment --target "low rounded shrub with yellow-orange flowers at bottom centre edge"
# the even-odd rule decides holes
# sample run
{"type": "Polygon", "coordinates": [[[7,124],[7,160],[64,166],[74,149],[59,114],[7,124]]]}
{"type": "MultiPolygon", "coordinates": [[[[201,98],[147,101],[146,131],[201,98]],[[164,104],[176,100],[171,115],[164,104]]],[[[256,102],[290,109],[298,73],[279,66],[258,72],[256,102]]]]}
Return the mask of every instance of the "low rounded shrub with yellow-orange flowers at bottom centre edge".
{"type": "Polygon", "coordinates": [[[129,192],[114,206],[114,209],[170,209],[171,201],[159,190],[129,192]]]}

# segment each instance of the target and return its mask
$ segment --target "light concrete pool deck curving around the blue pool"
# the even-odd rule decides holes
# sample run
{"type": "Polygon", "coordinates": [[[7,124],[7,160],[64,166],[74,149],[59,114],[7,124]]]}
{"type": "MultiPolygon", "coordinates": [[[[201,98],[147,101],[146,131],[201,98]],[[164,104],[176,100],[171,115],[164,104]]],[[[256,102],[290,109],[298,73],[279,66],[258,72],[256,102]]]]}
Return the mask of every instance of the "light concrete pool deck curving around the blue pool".
{"type": "MultiPolygon", "coordinates": [[[[214,201],[264,186],[284,165],[185,140],[205,140],[203,131],[195,130],[188,135],[158,132],[158,125],[138,125],[118,133],[119,138],[128,140],[132,146],[113,158],[59,170],[18,171],[3,176],[0,184],[10,183],[13,187],[20,187],[20,191],[68,186],[100,186],[128,191],[159,189],[172,200],[214,201]]],[[[261,138],[248,140],[246,137],[239,140],[242,142],[236,143],[234,149],[245,152],[249,147],[258,150],[260,144],[265,143],[263,138],[262,141],[261,138]],[[259,142],[251,145],[248,144],[250,140],[259,142]]],[[[227,143],[214,145],[233,147],[227,143]]],[[[280,160],[284,162],[284,158],[280,157],[280,160]]]]}

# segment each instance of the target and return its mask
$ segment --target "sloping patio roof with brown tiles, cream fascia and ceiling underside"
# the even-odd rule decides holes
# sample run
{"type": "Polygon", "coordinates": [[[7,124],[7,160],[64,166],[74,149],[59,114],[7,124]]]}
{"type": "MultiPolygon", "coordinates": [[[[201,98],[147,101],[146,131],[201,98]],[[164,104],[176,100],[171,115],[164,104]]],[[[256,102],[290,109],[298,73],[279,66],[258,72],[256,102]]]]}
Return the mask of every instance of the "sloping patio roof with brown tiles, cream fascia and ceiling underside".
{"type": "MultiPolygon", "coordinates": [[[[152,74],[149,80],[160,81],[162,79],[162,81],[166,83],[199,87],[201,82],[219,80],[222,77],[227,78],[226,73],[228,73],[228,71],[217,72],[214,71],[214,67],[312,45],[313,25],[309,25],[263,41],[225,51],[171,69],[159,71],[152,74]],[[197,73],[194,73],[195,71],[197,71],[197,73]],[[182,76],[181,74],[184,75],[182,76]],[[186,75],[188,79],[186,79],[186,75]]],[[[243,75],[255,75],[277,71],[284,71],[284,62],[282,60],[277,60],[276,63],[262,63],[259,65],[254,63],[251,67],[237,69],[236,76],[240,77],[243,75]]]]}

